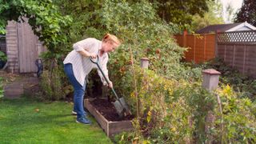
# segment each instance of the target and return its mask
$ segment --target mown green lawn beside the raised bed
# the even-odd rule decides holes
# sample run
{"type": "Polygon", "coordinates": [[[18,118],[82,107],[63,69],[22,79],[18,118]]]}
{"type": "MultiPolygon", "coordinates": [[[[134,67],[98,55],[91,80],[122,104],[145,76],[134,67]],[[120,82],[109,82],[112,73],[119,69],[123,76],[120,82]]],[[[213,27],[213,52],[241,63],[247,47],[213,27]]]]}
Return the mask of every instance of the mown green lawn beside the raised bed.
{"type": "Polygon", "coordinates": [[[76,123],[71,110],[68,102],[0,99],[0,143],[112,143],[94,118],[76,123]]]}

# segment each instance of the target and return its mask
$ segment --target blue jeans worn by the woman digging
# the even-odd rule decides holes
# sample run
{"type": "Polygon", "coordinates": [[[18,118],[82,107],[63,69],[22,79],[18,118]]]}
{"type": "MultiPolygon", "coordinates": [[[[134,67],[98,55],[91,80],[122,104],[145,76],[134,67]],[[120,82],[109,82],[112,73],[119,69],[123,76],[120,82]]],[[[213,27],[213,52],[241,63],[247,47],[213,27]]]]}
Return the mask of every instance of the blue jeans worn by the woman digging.
{"type": "MultiPolygon", "coordinates": [[[[78,117],[86,115],[86,111],[83,107],[83,97],[86,90],[86,80],[83,86],[74,77],[74,72],[71,63],[64,65],[64,71],[69,78],[71,85],[74,87],[74,111],[77,112],[78,117]]],[[[87,77],[86,77],[87,78],[87,77]]]]}

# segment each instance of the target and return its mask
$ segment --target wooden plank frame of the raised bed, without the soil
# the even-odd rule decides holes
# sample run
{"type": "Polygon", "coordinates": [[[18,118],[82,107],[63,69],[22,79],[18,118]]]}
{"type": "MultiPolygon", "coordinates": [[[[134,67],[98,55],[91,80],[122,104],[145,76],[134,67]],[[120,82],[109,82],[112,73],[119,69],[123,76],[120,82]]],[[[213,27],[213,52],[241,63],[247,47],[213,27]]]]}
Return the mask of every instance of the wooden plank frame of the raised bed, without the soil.
{"type": "Polygon", "coordinates": [[[98,112],[98,110],[94,108],[94,106],[90,104],[90,101],[92,100],[94,100],[94,98],[85,99],[85,107],[90,112],[90,114],[94,116],[108,137],[113,137],[114,134],[119,134],[123,131],[133,130],[131,121],[108,121],[102,114],[98,112]]]}

